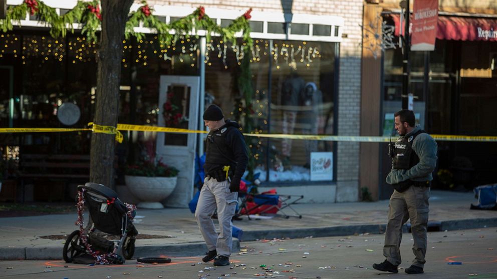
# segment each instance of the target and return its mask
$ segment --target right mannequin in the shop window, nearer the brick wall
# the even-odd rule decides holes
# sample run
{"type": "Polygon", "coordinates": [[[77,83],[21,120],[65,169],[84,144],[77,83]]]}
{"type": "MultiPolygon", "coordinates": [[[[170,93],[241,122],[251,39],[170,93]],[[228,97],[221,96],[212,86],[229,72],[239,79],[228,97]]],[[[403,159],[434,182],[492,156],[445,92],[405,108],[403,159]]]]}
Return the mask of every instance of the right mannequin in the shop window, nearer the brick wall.
{"type": "MultiPolygon", "coordinates": [[[[323,107],[323,93],[318,89],[316,83],[307,82],[301,95],[301,102],[304,105],[303,122],[306,124],[302,130],[303,134],[317,135],[323,124],[323,116],[320,109],[323,107]]],[[[306,167],[311,165],[311,152],[318,151],[317,140],[305,140],[306,146],[306,167]]]]}

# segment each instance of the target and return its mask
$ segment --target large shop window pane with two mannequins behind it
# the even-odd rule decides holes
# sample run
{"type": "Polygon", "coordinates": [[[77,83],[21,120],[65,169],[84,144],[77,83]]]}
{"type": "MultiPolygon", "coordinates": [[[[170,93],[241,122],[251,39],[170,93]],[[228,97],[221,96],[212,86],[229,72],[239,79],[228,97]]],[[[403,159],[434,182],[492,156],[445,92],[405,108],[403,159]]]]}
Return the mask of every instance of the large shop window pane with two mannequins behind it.
{"type": "MultiPolygon", "coordinates": [[[[334,47],[331,42],[275,40],[271,131],[333,134],[334,47]]],[[[310,180],[311,153],[332,151],[329,141],[272,140],[270,181],[310,180]]]]}

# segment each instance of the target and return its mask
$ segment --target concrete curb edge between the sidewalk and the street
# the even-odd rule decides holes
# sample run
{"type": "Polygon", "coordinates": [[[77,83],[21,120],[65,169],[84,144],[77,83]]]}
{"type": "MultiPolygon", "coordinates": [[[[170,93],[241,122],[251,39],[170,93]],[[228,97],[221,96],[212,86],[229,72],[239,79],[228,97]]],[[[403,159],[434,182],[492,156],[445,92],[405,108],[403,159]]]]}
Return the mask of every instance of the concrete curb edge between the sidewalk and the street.
{"type": "MultiPolygon", "coordinates": [[[[329,227],[286,228],[271,230],[249,230],[243,232],[243,241],[256,241],[273,238],[304,238],[344,236],[360,233],[382,234],[386,224],[359,224],[329,227]]],[[[428,223],[428,231],[444,231],[497,227],[497,218],[460,219],[448,221],[432,221],[428,223]]],[[[409,232],[410,225],[403,226],[403,232],[409,232]]],[[[240,250],[240,241],[233,238],[233,253],[240,250]]],[[[188,242],[167,245],[136,246],[134,257],[140,256],[198,256],[207,251],[204,242],[188,242]]],[[[0,260],[40,260],[61,259],[62,246],[57,247],[0,247],[0,260]]]]}

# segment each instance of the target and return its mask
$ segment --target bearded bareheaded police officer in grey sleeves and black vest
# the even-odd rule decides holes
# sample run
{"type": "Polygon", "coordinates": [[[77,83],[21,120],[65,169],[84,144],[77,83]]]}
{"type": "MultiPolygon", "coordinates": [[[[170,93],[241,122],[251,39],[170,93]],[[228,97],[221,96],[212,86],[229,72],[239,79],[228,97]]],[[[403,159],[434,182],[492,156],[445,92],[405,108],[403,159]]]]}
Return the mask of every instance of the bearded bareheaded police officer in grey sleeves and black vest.
{"type": "Polygon", "coordinates": [[[373,264],[381,271],[398,272],[402,225],[410,219],[414,243],[414,259],[404,271],[410,274],[423,273],[426,254],[426,230],[428,226],[428,198],[431,172],[437,160],[437,144],[433,137],[414,126],[412,110],[402,109],[394,114],[395,129],[399,137],[391,143],[392,170],[386,181],[394,188],[390,197],[388,223],[385,232],[383,255],[385,261],[373,264]]]}

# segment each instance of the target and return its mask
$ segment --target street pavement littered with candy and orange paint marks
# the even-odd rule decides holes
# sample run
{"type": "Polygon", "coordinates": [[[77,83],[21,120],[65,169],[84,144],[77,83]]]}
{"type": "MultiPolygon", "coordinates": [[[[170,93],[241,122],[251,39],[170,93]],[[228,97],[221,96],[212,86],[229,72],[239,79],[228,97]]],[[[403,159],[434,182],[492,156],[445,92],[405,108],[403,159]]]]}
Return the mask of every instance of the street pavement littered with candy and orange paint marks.
{"type": "Polygon", "coordinates": [[[383,261],[383,235],[362,234],[242,242],[229,266],[202,263],[201,256],[172,257],[171,263],[86,266],[62,260],[0,261],[2,278],[497,278],[495,227],[428,233],[424,274],[406,274],[414,255],[404,234],[398,273],[372,269],[383,261]],[[460,262],[461,264],[448,264],[460,262]],[[67,265],[67,267],[65,267],[67,265]]]}

